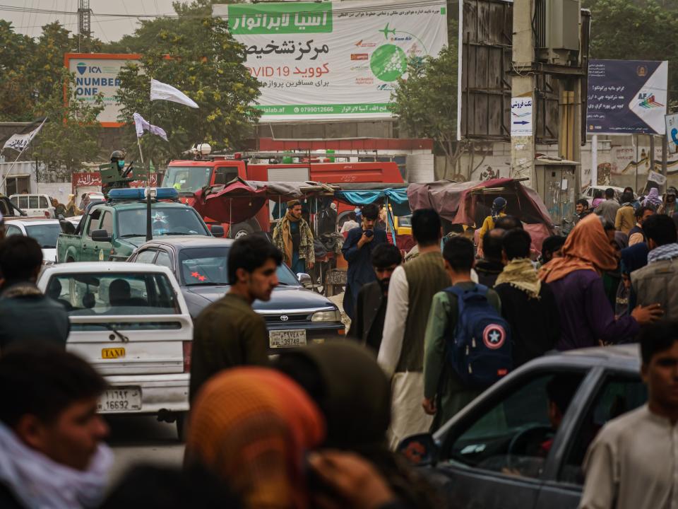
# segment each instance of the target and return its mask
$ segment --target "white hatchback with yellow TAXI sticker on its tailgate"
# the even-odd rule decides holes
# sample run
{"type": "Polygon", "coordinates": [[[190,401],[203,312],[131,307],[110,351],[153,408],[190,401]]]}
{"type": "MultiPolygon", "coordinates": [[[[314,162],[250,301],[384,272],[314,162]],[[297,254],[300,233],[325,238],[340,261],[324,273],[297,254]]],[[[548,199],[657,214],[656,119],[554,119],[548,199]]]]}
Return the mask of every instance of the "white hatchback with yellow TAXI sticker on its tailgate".
{"type": "Polygon", "coordinates": [[[155,414],[177,421],[189,409],[193,322],[166,267],[125,262],[53,265],[37,286],[69,312],[66,349],[106,378],[102,414],[155,414]]]}

